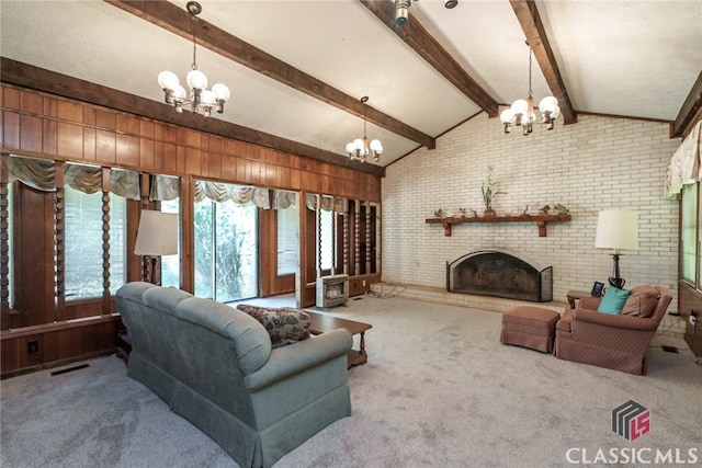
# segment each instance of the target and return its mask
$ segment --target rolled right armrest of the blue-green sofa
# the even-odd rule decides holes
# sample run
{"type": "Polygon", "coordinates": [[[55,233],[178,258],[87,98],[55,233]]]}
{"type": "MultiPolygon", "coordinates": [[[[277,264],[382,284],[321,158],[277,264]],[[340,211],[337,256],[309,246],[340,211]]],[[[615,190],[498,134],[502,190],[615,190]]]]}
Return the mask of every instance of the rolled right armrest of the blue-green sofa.
{"type": "Polygon", "coordinates": [[[260,390],[333,357],[346,356],[352,345],[351,333],[348,330],[339,329],[276,347],[263,367],[245,377],[247,390],[260,390]]]}

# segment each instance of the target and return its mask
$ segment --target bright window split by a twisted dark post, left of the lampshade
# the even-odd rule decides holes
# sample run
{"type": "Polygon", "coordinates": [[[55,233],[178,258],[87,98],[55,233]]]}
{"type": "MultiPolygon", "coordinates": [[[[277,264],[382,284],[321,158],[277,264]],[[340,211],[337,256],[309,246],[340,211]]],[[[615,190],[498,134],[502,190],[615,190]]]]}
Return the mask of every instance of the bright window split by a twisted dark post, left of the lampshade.
{"type": "MultiPolygon", "coordinates": [[[[65,187],[66,299],[99,297],[103,293],[102,192],[84,194],[65,187]]],[[[126,282],[126,199],[110,194],[110,292],[126,282]]]]}

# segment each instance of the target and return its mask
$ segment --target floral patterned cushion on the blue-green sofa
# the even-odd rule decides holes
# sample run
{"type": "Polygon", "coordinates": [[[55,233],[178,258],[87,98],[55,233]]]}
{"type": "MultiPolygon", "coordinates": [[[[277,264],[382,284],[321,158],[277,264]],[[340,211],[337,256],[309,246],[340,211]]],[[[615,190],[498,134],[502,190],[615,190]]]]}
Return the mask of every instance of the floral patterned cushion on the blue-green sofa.
{"type": "Polygon", "coordinates": [[[312,319],[307,312],[293,308],[272,308],[239,304],[237,309],[257,319],[271,336],[273,347],[309,338],[312,319]]]}

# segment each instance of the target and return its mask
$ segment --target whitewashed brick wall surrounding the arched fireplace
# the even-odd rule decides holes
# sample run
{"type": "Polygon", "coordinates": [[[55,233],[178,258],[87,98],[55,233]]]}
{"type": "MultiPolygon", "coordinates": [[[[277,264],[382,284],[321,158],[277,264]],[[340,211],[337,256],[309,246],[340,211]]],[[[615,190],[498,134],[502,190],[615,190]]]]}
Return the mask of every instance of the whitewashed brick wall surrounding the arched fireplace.
{"type": "MultiPolygon", "coordinates": [[[[665,199],[666,168],[680,139],[667,124],[581,115],[579,122],[552,132],[537,125],[524,137],[502,133],[499,119],[484,114],[387,168],[383,180],[383,281],[407,286],[407,294],[445,290],[445,263],[482,249],[514,254],[536,267],[553,266],[554,299],[565,303],[569,289],[607,284],[609,251],[595,248],[598,213],[634,209],[639,217],[639,250],[624,252],[621,276],[626,287],[660,284],[677,290],[678,202],[665,199]],[[480,184],[487,167],[500,182],[495,202],[535,214],[545,204],[570,208],[573,220],[551,222],[547,237],[534,224],[464,224],[445,237],[441,225],[428,225],[438,208],[483,210],[480,184]]],[[[509,304],[509,303],[505,303],[509,304]]],[[[676,308],[677,299],[670,310],[676,308]]]]}

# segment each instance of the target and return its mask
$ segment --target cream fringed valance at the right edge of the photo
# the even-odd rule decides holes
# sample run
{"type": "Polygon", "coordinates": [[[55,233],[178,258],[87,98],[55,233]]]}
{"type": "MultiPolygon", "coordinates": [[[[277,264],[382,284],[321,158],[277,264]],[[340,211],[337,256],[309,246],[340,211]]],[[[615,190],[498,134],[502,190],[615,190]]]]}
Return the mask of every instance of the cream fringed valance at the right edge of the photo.
{"type": "Polygon", "coordinates": [[[682,187],[702,180],[702,122],[698,122],[690,135],[682,140],[668,163],[666,198],[678,198],[682,187]]]}

